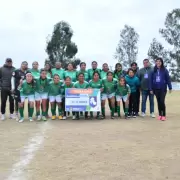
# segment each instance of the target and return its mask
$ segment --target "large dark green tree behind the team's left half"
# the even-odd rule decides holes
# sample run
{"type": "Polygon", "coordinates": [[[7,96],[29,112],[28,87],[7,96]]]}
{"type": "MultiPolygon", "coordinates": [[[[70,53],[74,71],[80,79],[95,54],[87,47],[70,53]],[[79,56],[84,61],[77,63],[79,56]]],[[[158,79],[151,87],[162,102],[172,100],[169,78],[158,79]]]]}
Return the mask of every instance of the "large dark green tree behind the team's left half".
{"type": "Polygon", "coordinates": [[[77,45],[71,41],[72,36],[73,30],[67,22],[61,21],[54,26],[52,35],[47,38],[46,46],[48,61],[50,61],[53,66],[55,62],[58,61],[61,62],[64,67],[67,64],[67,60],[75,60],[74,56],[78,52],[78,48],[77,45]]]}

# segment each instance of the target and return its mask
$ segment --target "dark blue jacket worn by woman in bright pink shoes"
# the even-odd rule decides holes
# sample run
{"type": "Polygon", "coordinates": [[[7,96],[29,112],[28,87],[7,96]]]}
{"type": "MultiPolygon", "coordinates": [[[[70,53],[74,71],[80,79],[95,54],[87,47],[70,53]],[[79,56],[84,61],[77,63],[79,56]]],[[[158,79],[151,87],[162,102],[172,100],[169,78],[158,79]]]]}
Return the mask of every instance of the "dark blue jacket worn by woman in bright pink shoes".
{"type": "Polygon", "coordinates": [[[154,71],[152,71],[152,73],[150,74],[149,90],[167,90],[167,86],[169,90],[172,89],[171,79],[168,70],[166,68],[158,70],[157,67],[155,67],[154,71]],[[160,80],[157,82],[158,76],[160,77],[160,80]]]}

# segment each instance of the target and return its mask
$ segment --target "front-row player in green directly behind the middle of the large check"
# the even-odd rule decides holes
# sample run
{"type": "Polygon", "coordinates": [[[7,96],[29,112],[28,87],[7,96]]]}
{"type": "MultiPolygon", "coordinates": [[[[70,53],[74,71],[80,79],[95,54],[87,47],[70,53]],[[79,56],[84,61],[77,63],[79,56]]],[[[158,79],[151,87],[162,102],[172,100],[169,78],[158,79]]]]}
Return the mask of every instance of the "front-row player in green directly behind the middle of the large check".
{"type": "MultiPolygon", "coordinates": [[[[78,81],[74,83],[74,88],[78,88],[78,89],[89,88],[89,83],[84,81],[84,73],[78,74],[78,81]]],[[[76,112],[76,119],[79,120],[79,112],[76,112]]],[[[85,119],[88,119],[88,112],[85,112],[85,119]]]]}

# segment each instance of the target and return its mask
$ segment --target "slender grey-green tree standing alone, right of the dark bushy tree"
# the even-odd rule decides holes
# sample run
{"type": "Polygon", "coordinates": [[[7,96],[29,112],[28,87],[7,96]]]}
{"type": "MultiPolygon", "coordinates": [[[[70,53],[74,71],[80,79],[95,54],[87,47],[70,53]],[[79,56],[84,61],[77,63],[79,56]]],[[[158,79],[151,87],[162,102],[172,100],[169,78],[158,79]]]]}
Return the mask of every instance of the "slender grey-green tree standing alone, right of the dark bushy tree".
{"type": "Polygon", "coordinates": [[[137,59],[138,40],[139,35],[131,26],[125,25],[120,31],[120,40],[114,57],[126,68],[137,59]]]}

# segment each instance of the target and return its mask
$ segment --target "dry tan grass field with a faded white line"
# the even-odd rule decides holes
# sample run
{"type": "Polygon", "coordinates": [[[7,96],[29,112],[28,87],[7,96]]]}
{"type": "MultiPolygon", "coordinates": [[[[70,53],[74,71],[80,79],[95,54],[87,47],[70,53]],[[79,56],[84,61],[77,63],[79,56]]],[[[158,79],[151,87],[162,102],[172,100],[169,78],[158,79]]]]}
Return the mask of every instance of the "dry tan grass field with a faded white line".
{"type": "Polygon", "coordinates": [[[0,122],[0,180],[179,180],[180,92],[167,112],[166,122],[0,122]]]}

